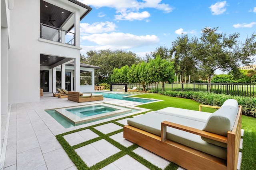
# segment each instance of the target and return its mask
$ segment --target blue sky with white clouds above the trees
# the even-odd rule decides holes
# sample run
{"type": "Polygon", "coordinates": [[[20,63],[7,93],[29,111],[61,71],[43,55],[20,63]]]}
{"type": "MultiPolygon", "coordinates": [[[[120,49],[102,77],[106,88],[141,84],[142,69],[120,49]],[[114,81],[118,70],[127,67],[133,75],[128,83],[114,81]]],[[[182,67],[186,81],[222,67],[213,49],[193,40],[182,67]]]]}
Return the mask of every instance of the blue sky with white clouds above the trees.
{"type": "Polygon", "coordinates": [[[140,57],[171,47],[182,33],[200,37],[205,27],[240,33],[256,31],[256,0],[79,0],[92,7],[80,22],[81,50],[122,49],[140,57]]]}

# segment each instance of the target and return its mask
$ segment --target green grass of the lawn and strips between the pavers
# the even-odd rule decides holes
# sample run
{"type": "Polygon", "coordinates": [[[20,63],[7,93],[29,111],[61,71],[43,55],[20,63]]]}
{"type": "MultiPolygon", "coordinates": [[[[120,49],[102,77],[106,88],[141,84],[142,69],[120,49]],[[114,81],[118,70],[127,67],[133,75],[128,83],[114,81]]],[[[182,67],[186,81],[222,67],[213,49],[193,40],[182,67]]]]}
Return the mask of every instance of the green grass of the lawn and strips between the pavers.
{"type": "MultiPolygon", "coordinates": [[[[191,110],[198,110],[199,104],[200,104],[193,100],[183,99],[183,98],[174,98],[174,97],[164,96],[164,95],[160,95],[160,94],[145,94],[145,95],[138,95],[136,97],[154,98],[154,99],[164,100],[162,102],[155,102],[155,103],[151,103],[151,104],[140,105],[141,108],[148,108],[148,109],[152,109],[152,110],[159,110],[159,109],[166,108],[169,106],[177,107],[177,108],[184,108],[184,109],[191,109],[191,110]]],[[[215,109],[203,108],[202,111],[214,112],[215,109]]],[[[132,116],[127,116],[124,118],[132,118],[132,116]]],[[[110,138],[110,136],[122,132],[122,129],[112,132],[112,133],[109,133],[109,134],[103,134],[102,132],[100,132],[94,128],[96,126],[100,126],[102,124],[107,124],[110,122],[117,124],[119,126],[123,126],[122,124],[120,124],[116,121],[124,119],[124,118],[111,120],[111,121],[104,122],[101,124],[96,124],[96,125],[92,125],[92,126],[89,126],[86,128],[81,128],[78,130],[66,132],[64,134],[57,135],[56,138],[60,142],[60,144],[62,145],[62,147],[68,154],[68,156],[70,157],[70,159],[74,162],[74,164],[76,165],[78,170],[98,170],[98,169],[103,168],[104,166],[107,166],[108,164],[114,162],[115,160],[121,158],[122,156],[124,156],[126,154],[131,156],[138,162],[144,164],[147,168],[149,168],[151,170],[160,170],[160,168],[151,164],[150,162],[148,162],[147,160],[145,160],[144,158],[142,158],[141,156],[139,156],[133,152],[134,149],[138,148],[138,145],[133,144],[132,146],[126,148],[126,147],[122,146],[121,144],[119,144],[118,142],[116,142],[115,140],[113,140],[112,138],[110,138]],[[68,144],[68,142],[66,142],[66,140],[63,137],[66,134],[71,134],[71,133],[78,132],[78,131],[84,130],[84,129],[92,130],[94,133],[98,134],[99,137],[94,138],[92,140],[88,140],[86,142],[80,143],[75,146],[70,146],[68,144]],[[105,160],[95,164],[92,167],[88,167],[84,163],[84,161],[76,154],[75,149],[85,146],[87,144],[91,144],[92,142],[95,142],[95,141],[98,141],[101,139],[107,140],[112,145],[119,148],[121,151],[118,152],[117,154],[114,154],[113,156],[110,156],[109,158],[106,158],[105,160]]],[[[241,163],[240,170],[255,170],[256,169],[256,164],[255,164],[255,162],[256,162],[256,118],[242,116],[242,128],[244,129],[244,137],[243,137],[244,142],[243,142],[243,149],[241,149],[242,163],[241,163]]],[[[164,170],[177,170],[177,168],[178,168],[178,166],[176,164],[170,163],[168,166],[166,166],[166,168],[164,170]]]]}

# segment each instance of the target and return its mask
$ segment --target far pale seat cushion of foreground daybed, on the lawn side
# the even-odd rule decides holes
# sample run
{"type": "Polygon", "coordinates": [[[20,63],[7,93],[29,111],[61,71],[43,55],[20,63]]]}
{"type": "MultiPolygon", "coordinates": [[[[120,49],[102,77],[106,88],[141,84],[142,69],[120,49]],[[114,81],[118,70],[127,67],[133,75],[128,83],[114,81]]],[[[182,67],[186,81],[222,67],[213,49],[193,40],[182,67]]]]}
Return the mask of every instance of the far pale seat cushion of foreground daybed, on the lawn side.
{"type": "Polygon", "coordinates": [[[199,112],[196,110],[188,110],[188,109],[182,109],[182,108],[172,108],[172,107],[167,107],[163,108],[161,110],[155,111],[160,114],[166,114],[170,116],[178,116],[180,118],[187,118],[191,120],[196,120],[200,122],[206,122],[209,116],[212,113],[208,112],[199,112]]]}

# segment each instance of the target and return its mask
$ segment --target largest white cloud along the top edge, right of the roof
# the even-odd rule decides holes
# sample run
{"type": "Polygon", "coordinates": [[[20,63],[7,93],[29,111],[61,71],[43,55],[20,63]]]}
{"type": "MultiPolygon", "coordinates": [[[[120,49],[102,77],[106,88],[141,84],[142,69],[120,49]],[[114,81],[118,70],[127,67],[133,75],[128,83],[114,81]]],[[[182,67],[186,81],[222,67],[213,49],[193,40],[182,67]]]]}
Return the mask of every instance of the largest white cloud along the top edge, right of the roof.
{"type": "MultiPolygon", "coordinates": [[[[162,0],[79,0],[80,2],[93,6],[95,8],[108,7],[115,8],[116,20],[143,20],[150,17],[147,11],[140,12],[143,8],[155,8],[164,11],[164,13],[172,12],[174,9],[169,4],[161,3],[162,0]]],[[[147,20],[148,22],[148,20],[147,20]]]]}

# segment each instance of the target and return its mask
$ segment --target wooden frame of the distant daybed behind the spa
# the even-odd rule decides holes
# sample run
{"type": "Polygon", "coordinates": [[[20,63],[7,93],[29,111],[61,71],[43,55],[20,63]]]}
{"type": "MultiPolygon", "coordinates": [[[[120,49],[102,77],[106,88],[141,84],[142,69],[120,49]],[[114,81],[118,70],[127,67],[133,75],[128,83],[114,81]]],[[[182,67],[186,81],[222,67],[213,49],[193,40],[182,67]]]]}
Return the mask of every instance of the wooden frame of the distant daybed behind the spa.
{"type": "Polygon", "coordinates": [[[91,96],[87,98],[80,98],[80,92],[68,91],[68,100],[78,102],[78,103],[103,100],[103,96],[92,97],[92,93],[86,93],[86,94],[91,94],[91,96]]]}

